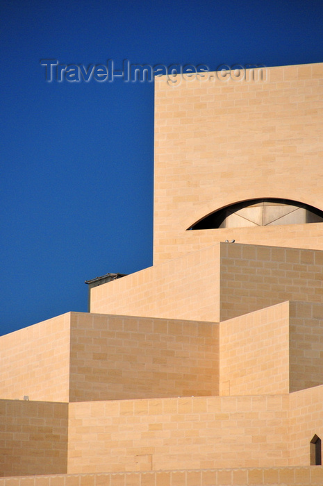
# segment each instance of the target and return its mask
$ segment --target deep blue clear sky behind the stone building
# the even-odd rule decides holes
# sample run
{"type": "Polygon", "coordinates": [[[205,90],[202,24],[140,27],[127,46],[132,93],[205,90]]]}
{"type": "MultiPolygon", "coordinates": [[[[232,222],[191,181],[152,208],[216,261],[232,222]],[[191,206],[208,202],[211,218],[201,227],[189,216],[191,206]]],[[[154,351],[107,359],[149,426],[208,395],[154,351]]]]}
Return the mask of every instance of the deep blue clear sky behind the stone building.
{"type": "Polygon", "coordinates": [[[152,263],[154,84],[47,83],[41,59],[323,62],[322,0],[4,0],[0,21],[0,335],[152,263]]]}

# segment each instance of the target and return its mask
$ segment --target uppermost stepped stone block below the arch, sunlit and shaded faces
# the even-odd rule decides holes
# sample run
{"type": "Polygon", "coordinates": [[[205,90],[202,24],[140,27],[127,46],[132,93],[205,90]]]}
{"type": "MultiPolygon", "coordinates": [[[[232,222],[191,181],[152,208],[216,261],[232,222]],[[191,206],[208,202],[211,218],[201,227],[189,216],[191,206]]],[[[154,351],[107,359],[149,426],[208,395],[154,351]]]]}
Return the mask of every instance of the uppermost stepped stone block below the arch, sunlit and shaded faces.
{"type": "Polygon", "coordinates": [[[218,243],[91,290],[91,312],[224,321],[323,303],[323,251],[218,243]]]}

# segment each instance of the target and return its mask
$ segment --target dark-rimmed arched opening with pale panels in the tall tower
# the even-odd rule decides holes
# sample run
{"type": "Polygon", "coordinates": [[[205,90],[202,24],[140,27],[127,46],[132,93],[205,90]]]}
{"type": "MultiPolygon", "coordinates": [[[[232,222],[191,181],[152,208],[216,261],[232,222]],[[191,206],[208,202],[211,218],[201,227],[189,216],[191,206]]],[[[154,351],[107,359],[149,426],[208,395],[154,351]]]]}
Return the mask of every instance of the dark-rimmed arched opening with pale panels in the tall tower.
{"type": "Polygon", "coordinates": [[[290,199],[249,199],[226,206],[194,223],[188,230],[243,228],[323,222],[323,211],[290,199]]]}

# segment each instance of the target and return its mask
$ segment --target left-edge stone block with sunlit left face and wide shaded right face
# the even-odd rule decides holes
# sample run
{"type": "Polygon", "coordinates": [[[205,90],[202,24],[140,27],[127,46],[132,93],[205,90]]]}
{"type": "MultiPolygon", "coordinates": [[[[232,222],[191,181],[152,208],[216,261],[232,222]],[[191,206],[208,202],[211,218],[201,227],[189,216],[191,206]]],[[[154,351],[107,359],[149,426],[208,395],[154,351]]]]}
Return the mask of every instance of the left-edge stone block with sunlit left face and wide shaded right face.
{"type": "Polygon", "coordinates": [[[219,326],[69,312],[0,337],[0,398],[95,401],[219,393],[219,326]]]}

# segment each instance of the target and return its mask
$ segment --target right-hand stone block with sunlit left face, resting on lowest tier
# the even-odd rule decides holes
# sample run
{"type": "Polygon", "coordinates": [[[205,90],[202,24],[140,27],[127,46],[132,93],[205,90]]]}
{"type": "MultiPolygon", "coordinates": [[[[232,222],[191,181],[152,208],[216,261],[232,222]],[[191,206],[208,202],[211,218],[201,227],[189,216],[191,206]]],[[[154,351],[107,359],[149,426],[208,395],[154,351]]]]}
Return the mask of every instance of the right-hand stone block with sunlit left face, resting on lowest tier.
{"type": "Polygon", "coordinates": [[[323,305],[283,302],[220,323],[220,394],[282,394],[323,383],[323,305]]]}

